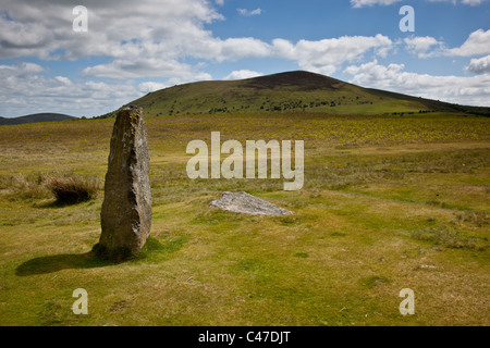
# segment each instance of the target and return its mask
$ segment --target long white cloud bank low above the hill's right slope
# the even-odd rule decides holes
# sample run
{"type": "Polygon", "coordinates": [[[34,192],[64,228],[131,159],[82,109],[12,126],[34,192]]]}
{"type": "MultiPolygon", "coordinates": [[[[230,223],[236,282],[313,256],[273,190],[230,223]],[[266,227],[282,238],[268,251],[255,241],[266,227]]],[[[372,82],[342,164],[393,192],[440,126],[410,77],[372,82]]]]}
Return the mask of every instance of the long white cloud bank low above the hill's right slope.
{"type": "Polygon", "coordinates": [[[490,107],[490,75],[432,76],[405,72],[404,64],[379,65],[375,60],[344,70],[353,84],[460,104],[490,107]]]}

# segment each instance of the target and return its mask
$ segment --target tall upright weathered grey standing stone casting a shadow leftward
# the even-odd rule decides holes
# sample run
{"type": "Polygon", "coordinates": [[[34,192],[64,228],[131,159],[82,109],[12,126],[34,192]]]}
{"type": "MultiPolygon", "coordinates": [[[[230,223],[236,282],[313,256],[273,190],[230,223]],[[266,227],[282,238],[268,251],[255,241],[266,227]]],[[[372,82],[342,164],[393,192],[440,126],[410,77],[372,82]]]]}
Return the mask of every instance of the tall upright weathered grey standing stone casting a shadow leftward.
{"type": "Polygon", "coordinates": [[[148,138],[143,109],[119,111],[112,130],[96,253],[121,261],[142,251],[151,226],[148,138]]]}

